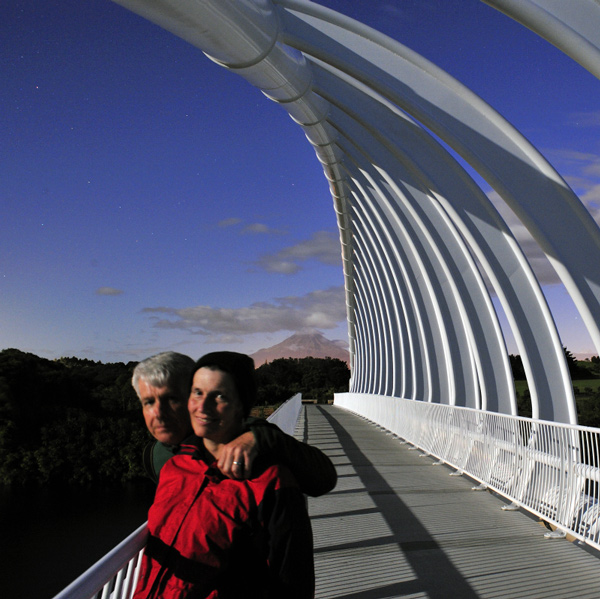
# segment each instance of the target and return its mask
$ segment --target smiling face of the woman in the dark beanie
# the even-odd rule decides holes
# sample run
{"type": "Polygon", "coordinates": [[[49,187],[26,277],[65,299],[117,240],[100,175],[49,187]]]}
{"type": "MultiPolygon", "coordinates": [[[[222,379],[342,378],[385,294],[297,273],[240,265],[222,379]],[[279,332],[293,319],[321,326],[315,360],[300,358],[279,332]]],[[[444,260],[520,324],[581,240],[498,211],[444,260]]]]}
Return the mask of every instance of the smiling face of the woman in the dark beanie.
{"type": "Polygon", "coordinates": [[[233,379],[226,372],[209,368],[195,372],[188,410],[194,433],[214,443],[235,439],[244,418],[233,379]]]}

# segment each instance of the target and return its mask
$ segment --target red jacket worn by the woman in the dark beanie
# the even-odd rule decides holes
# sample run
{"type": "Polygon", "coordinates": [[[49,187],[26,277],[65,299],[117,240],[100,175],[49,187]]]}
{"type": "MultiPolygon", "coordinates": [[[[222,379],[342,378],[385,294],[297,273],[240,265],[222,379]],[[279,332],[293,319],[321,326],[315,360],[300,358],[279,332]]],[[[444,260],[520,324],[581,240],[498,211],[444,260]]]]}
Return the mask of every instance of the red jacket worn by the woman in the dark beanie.
{"type": "Polygon", "coordinates": [[[161,470],[148,530],[134,599],[314,597],[310,521],[283,466],[231,480],[188,439],[161,470]]]}

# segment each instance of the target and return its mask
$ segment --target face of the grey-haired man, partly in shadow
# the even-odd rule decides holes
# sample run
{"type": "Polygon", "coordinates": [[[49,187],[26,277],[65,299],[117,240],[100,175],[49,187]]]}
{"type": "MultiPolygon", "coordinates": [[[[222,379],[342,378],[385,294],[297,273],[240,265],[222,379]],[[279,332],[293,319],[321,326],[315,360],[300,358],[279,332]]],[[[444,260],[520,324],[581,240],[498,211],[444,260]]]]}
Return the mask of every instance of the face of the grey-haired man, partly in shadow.
{"type": "Polygon", "coordinates": [[[192,432],[187,395],[169,384],[153,387],[138,382],[140,402],[150,434],[161,443],[179,445],[192,432]]]}

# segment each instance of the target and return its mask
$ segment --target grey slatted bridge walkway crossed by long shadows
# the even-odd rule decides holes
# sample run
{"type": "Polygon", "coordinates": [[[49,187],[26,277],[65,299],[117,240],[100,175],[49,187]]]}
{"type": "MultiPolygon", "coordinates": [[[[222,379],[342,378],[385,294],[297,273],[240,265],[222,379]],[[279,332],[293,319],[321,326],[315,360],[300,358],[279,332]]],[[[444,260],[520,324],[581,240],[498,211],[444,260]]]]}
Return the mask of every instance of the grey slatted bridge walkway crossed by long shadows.
{"type": "Polygon", "coordinates": [[[305,405],[296,436],[339,477],[309,498],[316,599],[600,597],[597,554],[362,418],[305,405]]]}

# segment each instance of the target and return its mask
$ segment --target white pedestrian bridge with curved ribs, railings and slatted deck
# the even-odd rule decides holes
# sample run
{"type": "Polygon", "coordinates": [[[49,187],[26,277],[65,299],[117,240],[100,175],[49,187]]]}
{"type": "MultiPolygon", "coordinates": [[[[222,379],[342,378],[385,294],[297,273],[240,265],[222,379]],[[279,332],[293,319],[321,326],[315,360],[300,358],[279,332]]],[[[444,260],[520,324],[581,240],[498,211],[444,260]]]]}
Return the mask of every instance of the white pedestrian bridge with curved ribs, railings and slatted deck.
{"type": "MultiPolygon", "coordinates": [[[[308,440],[340,469],[337,489],[310,503],[318,596],[597,596],[584,548],[600,548],[599,431],[578,426],[540,284],[466,166],[545,253],[600,354],[600,229],[575,192],[461,83],[318,3],[115,1],[279,103],[323,166],[352,378],[333,407],[304,411],[308,440]],[[492,297],[523,360],[530,419],[492,297]]],[[[486,3],[600,77],[597,0],[486,3]]],[[[112,572],[144,538],[109,556],[112,572]]],[[[97,582],[62,596],[90,597],[97,582]]],[[[121,572],[103,597],[130,584],[121,572]]]]}

